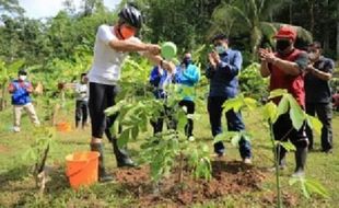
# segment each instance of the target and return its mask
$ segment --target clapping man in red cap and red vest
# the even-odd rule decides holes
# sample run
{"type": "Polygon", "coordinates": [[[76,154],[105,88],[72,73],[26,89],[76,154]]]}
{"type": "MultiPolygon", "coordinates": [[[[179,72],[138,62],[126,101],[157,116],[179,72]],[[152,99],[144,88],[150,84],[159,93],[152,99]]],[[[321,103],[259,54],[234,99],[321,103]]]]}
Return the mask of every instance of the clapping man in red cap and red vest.
{"type": "MultiPolygon", "coordinates": [[[[270,91],[285,89],[297,101],[302,108],[305,107],[304,71],[307,67],[307,54],[294,48],[296,31],[292,26],[282,26],[274,38],[277,39],[277,53],[268,49],[259,49],[261,59],[260,73],[264,78],[270,77],[270,91]]],[[[273,100],[279,104],[280,100],[273,100]]],[[[295,146],[295,172],[293,176],[303,176],[306,163],[308,139],[305,134],[305,125],[301,129],[294,129],[290,115],[281,115],[273,124],[276,140],[290,139],[295,146]]],[[[285,149],[280,147],[279,165],[284,167],[285,149]]]]}

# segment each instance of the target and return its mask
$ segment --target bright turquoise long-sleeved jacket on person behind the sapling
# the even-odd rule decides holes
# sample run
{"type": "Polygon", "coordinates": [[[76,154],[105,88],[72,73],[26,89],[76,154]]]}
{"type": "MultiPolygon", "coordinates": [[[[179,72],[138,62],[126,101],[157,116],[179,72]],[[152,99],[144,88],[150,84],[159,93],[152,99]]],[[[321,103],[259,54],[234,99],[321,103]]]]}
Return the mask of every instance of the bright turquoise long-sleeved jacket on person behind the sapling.
{"type": "Polygon", "coordinates": [[[189,63],[186,69],[178,66],[175,73],[175,82],[178,84],[178,93],[183,100],[194,101],[195,85],[200,79],[200,71],[194,63],[189,63]]]}

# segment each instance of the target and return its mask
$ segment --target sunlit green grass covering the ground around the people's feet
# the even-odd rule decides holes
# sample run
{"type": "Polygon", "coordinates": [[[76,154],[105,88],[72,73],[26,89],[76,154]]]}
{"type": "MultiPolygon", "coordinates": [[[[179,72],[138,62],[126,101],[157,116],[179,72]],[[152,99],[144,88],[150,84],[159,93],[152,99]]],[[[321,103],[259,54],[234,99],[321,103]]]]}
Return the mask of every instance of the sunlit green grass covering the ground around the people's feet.
{"type": "MultiPolygon", "coordinates": [[[[39,109],[38,112],[42,112],[39,109]]],[[[203,109],[200,118],[195,123],[195,135],[198,142],[209,142],[212,150],[211,132],[208,116],[203,109]]],[[[254,165],[268,167],[272,165],[272,152],[268,131],[258,120],[258,112],[245,112],[243,114],[246,127],[253,134],[254,165]]],[[[34,178],[30,175],[30,162],[22,160],[23,152],[33,142],[32,126],[27,117],[23,118],[23,127],[20,134],[10,130],[12,112],[8,108],[0,112],[0,207],[136,207],[133,198],[119,184],[96,184],[79,192],[72,190],[65,175],[65,157],[74,151],[89,150],[90,129],[72,130],[71,132],[58,132],[57,148],[51,151],[47,161],[54,171],[47,184],[45,195],[38,195],[34,178]]],[[[62,111],[59,120],[72,123],[73,112],[62,111]]],[[[224,122],[224,120],[223,120],[224,122]]],[[[334,138],[339,135],[339,116],[334,117],[334,138]]],[[[143,132],[141,138],[130,143],[133,158],[138,158],[140,139],[149,136],[143,132]]],[[[315,137],[315,148],[319,149],[319,138],[315,137]]],[[[116,169],[112,147],[105,141],[106,164],[108,170],[116,169]]],[[[226,143],[226,155],[230,160],[239,160],[237,148],[226,143]]],[[[297,187],[288,185],[289,176],[294,169],[294,155],[288,154],[288,170],[282,173],[282,188],[297,198],[297,207],[338,207],[339,204],[339,149],[335,147],[332,154],[312,152],[308,154],[306,175],[319,181],[330,193],[329,199],[314,196],[305,199],[297,187]]],[[[204,207],[271,207],[262,204],[261,198],[274,190],[273,174],[269,175],[262,184],[260,192],[245,193],[234,196],[225,196],[222,199],[206,201],[203,205],[191,205],[195,208],[204,207]]]]}

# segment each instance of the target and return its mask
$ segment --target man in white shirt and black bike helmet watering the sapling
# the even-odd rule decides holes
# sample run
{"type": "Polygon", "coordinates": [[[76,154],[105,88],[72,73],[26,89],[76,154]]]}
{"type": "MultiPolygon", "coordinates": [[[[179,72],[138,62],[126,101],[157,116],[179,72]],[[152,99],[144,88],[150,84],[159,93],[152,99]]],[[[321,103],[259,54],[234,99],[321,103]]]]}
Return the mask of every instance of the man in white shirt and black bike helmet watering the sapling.
{"type": "Polygon", "coordinates": [[[87,74],[90,82],[89,108],[92,124],[91,150],[100,152],[98,180],[112,181],[104,166],[102,137],[105,132],[113,145],[118,166],[135,166],[126,150],[118,148],[117,139],[110,134],[109,127],[117,115],[106,117],[104,111],[115,105],[118,93],[117,82],[124,59],[128,53],[137,51],[155,65],[162,66],[170,72],[175,69],[172,62],[160,56],[160,46],[142,43],[135,36],[142,26],[140,11],[127,4],[119,12],[119,20],[114,26],[101,25],[96,33],[94,59],[87,74]]]}

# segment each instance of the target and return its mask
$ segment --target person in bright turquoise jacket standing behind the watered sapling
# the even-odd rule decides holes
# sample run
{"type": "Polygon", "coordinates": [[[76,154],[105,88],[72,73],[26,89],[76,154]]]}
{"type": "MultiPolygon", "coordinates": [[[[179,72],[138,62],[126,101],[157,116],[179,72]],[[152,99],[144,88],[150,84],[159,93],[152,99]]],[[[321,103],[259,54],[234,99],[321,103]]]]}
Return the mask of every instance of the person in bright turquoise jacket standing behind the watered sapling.
{"type": "Polygon", "coordinates": [[[195,104],[195,85],[199,82],[200,72],[198,67],[192,62],[191,54],[185,54],[182,65],[175,73],[175,82],[178,85],[178,93],[183,97],[179,106],[184,107],[187,115],[185,125],[185,135],[188,140],[194,141],[194,114],[195,104]]]}

